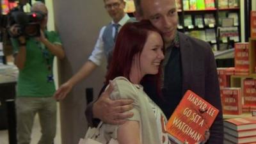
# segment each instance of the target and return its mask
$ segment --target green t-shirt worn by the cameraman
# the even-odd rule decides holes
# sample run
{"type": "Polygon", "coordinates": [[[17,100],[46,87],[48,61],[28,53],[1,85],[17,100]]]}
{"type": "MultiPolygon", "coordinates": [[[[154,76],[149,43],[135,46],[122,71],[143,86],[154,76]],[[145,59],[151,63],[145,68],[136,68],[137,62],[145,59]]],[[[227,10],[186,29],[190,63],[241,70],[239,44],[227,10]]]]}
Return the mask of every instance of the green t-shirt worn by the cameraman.
{"type": "MultiPolygon", "coordinates": [[[[61,40],[54,31],[45,31],[45,36],[52,44],[61,40]]],[[[19,52],[17,39],[12,38],[14,53],[19,52]]],[[[54,81],[51,81],[54,55],[41,42],[31,37],[26,40],[26,61],[19,71],[17,97],[51,97],[55,92],[54,81]],[[51,68],[49,68],[51,67],[51,68]]]]}

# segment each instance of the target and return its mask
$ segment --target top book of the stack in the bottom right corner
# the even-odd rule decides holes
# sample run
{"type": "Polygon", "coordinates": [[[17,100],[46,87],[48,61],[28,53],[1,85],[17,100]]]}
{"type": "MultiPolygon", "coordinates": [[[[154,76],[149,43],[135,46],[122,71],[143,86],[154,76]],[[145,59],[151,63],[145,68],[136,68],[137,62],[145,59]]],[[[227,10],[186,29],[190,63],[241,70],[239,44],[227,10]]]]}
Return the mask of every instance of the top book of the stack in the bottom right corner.
{"type": "Polygon", "coordinates": [[[231,118],[224,120],[223,125],[236,131],[256,129],[256,117],[231,118]]]}

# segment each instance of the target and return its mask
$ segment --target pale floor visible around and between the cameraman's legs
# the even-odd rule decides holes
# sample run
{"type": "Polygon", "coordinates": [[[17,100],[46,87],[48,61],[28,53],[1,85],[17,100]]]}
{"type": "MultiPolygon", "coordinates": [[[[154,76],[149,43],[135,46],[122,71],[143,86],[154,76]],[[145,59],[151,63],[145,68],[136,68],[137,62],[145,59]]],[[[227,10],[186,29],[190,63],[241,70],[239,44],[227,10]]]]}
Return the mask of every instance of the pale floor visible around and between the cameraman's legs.
{"type": "MultiPolygon", "coordinates": [[[[58,105],[57,105],[58,106],[58,105]]],[[[58,106],[59,108],[59,106],[58,106]]],[[[54,140],[54,144],[61,144],[61,132],[60,132],[60,113],[58,109],[58,118],[57,118],[57,133],[56,137],[54,140]]],[[[36,144],[38,143],[39,139],[41,136],[40,132],[40,123],[38,119],[38,115],[35,117],[34,125],[33,125],[33,130],[32,130],[32,136],[31,136],[31,144],[36,144]]],[[[0,131],[0,144],[8,144],[8,131],[0,131]]]]}

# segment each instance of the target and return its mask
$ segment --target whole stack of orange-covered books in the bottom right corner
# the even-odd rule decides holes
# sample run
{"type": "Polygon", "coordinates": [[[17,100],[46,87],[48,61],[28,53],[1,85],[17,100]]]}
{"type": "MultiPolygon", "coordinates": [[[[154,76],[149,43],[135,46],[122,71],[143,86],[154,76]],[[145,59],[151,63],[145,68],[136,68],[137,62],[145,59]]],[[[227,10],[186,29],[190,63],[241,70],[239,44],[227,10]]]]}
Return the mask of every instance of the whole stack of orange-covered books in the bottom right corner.
{"type": "Polygon", "coordinates": [[[256,143],[256,117],[224,120],[224,143],[256,143]]]}

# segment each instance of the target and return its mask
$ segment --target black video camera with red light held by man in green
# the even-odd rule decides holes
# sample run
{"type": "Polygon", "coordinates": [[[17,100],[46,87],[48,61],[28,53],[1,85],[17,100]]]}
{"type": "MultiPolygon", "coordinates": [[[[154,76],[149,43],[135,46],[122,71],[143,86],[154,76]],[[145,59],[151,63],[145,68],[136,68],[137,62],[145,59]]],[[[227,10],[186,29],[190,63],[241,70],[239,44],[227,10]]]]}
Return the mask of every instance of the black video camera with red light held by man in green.
{"type": "Polygon", "coordinates": [[[7,28],[17,24],[18,34],[11,35],[13,38],[19,36],[40,36],[40,22],[45,15],[42,12],[25,13],[20,10],[13,9],[8,15],[1,15],[0,27],[7,28]]]}

